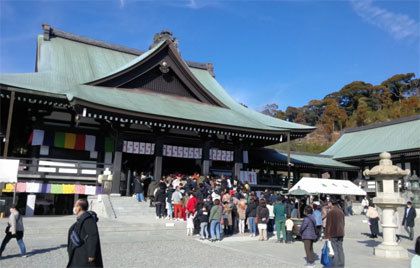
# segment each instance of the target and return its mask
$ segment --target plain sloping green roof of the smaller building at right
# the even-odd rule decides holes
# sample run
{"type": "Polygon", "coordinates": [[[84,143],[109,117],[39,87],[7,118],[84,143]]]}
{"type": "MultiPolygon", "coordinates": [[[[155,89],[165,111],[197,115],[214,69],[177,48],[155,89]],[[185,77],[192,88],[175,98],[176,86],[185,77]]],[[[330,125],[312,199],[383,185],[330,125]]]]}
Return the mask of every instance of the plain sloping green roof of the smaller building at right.
{"type": "Polygon", "coordinates": [[[334,159],[420,149],[420,116],[345,132],[324,155],[334,159]]]}

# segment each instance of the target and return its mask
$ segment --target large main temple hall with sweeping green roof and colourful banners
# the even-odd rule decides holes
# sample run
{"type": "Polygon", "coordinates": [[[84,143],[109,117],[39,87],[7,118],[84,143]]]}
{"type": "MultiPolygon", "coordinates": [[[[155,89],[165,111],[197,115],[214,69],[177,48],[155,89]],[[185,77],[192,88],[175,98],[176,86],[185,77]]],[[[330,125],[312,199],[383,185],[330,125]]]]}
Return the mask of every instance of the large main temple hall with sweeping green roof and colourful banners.
{"type": "Polygon", "coordinates": [[[108,170],[112,193],[132,171],[239,176],[250,151],[314,129],[237,103],[212,64],[181,57],[169,31],[139,51],[42,29],[35,72],[0,75],[1,151],[20,160],[18,195],[35,193],[58,214],[74,200],[60,194],[101,192],[108,170]]]}

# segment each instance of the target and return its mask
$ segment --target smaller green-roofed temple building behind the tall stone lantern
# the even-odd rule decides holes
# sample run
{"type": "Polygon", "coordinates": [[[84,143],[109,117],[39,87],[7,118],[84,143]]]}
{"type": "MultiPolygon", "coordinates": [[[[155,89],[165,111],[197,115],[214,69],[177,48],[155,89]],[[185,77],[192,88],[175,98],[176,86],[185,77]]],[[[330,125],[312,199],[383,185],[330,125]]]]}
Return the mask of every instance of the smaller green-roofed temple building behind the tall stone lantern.
{"type": "MultiPolygon", "coordinates": [[[[346,129],[324,156],[348,165],[357,166],[359,173],[353,176],[366,192],[375,192],[373,178],[364,177],[363,170],[376,166],[379,154],[388,152],[392,161],[402,169],[411,170],[412,176],[420,172],[420,115],[400,118],[389,122],[346,129]]],[[[404,178],[407,182],[409,178],[404,178]]],[[[404,188],[404,184],[400,183],[404,188]]]]}

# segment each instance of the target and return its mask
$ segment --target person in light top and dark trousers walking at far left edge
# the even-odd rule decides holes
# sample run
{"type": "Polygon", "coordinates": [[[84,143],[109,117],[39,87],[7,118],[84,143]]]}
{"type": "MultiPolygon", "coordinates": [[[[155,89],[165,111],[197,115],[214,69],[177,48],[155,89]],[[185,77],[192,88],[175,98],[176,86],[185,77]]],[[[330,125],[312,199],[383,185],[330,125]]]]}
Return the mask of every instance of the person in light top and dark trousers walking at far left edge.
{"type": "Polygon", "coordinates": [[[21,256],[26,257],[26,247],[23,242],[23,230],[22,215],[20,215],[16,205],[12,205],[10,208],[9,222],[7,223],[5,231],[6,236],[4,237],[0,247],[0,257],[3,254],[7,243],[9,243],[12,238],[16,238],[21,256]]]}

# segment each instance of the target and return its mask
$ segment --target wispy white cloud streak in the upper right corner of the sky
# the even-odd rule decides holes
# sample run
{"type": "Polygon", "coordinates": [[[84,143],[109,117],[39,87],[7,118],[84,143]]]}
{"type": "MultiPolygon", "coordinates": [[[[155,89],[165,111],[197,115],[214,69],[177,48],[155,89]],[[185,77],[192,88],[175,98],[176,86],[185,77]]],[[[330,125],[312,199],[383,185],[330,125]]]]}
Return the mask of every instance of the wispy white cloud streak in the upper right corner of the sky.
{"type": "Polygon", "coordinates": [[[376,6],[373,0],[351,0],[353,10],[368,23],[388,32],[397,40],[415,38],[420,34],[417,21],[376,6]]]}

